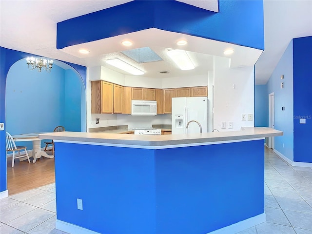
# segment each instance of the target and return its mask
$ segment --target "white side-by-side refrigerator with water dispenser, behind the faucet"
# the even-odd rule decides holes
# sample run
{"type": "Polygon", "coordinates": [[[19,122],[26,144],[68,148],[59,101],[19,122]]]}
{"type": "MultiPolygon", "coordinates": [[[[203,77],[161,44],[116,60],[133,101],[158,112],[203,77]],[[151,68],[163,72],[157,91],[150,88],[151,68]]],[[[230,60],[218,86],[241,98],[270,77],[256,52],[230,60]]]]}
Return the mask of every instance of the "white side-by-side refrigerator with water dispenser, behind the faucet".
{"type": "Polygon", "coordinates": [[[200,133],[199,125],[194,121],[186,128],[191,120],[200,123],[203,133],[208,132],[208,98],[172,98],[172,134],[200,133]]]}

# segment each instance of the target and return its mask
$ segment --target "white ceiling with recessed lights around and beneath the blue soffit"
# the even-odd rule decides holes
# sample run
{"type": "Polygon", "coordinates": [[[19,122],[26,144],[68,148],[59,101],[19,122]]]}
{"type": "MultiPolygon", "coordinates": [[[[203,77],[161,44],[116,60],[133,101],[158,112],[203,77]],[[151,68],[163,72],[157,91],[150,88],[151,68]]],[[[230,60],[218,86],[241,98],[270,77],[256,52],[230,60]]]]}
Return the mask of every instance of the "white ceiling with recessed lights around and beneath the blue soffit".
{"type": "MultiPolygon", "coordinates": [[[[223,51],[227,47],[235,47],[228,43],[218,43],[214,44],[214,50],[211,48],[211,43],[213,43],[211,40],[149,29],[154,30],[152,34],[151,32],[147,34],[138,32],[138,34],[121,35],[99,40],[95,43],[67,47],[62,50],[56,49],[57,22],[129,1],[0,0],[0,46],[84,66],[106,66],[103,59],[116,56],[116,52],[125,50],[120,45],[120,40],[122,39],[135,41],[136,43],[132,48],[150,46],[158,55],[161,55],[160,57],[166,56],[164,54],[165,49],[176,47],[175,42],[177,39],[187,39],[189,43],[183,49],[192,51],[189,53],[189,56],[197,64],[196,69],[182,73],[169,60],[163,58],[164,61],[162,62],[143,65],[143,69],[147,71],[145,75],[154,77],[163,77],[164,75],[159,75],[159,71],[162,70],[170,72],[170,74],[165,76],[173,77],[207,74],[207,71],[212,69],[211,54],[218,55],[219,52],[217,50],[223,51]],[[149,40],[145,40],[145,42],[138,40],[143,36],[148,37],[147,35],[150,35],[149,40]],[[156,37],[156,35],[161,35],[161,37],[156,37]],[[105,50],[99,50],[98,48],[103,48],[103,46],[99,47],[98,43],[104,42],[114,46],[105,46],[105,50]],[[92,53],[87,56],[77,54],[77,48],[82,46],[88,46],[88,49],[91,48],[90,51],[92,53]],[[92,48],[97,49],[92,51],[92,48]]],[[[183,0],[183,2],[189,4],[200,3],[198,0],[183,0]]],[[[292,38],[312,35],[311,12],[312,0],[264,0],[265,51],[256,63],[257,84],[265,84],[267,82],[292,38]]],[[[240,53],[231,56],[231,66],[250,65],[248,61],[253,62],[259,56],[259,51],[257,50],[253,50],[250,53],[246,51],[246,47],[236,46],[235,49],[240,53]],[[248,56],[250,58],[247,59],[246,57],[248,56]]],[[[223,55],[219,54],[219,56],[223,55]]]]}

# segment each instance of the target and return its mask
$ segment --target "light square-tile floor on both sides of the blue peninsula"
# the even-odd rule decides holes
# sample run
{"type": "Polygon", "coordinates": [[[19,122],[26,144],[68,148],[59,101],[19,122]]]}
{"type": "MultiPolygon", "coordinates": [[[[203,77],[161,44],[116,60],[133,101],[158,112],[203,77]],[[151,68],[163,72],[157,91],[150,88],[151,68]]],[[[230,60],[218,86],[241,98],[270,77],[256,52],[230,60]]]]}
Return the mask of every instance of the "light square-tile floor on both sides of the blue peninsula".
{"type": "MultiPolygon", "coordinates": [[[[265,150],[267,221],[239,234],[312,234],[312,168],[265,150]]],[[[0,234],[66,234],[55,229],[55,184],[0,200],[0,234]]]]}

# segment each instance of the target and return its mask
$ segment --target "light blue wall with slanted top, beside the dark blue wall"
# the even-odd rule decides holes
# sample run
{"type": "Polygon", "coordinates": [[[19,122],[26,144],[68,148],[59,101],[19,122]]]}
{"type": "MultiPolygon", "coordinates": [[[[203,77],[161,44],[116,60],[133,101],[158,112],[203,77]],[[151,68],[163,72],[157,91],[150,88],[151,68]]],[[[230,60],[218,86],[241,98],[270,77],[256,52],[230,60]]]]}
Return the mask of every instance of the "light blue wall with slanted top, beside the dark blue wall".
{"type": "MultiPolygon", "coordinates": [[[[292,41],[279,60],[267,86],[268,93],[274,93],[274,128],[284,132],[274,137],[274,149],[293,161],[293,72],[292,41]],[[282,80],[280,77],[284,75],[282,80]],[[285,88],[281,89],[281,82],[285,88]],[[282,111],[282,107],[285,111],[282,111]],[[284,147],[283,147],[284,144],[284,147]]],[[[269,108],[269,107],[268,107],[269,108]]]]}

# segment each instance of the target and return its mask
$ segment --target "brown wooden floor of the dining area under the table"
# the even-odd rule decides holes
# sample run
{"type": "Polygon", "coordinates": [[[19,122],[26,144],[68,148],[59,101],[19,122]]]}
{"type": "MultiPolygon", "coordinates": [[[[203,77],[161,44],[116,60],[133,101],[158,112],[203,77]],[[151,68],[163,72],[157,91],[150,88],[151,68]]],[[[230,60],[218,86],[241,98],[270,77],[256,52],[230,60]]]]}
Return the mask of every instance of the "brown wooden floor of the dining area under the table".
{"type": "Polygon", "coordinates": [[[7,183],[9,195],[55,183],[54,158],[39,158],[36,163],[7,158],[7,183]]]}

